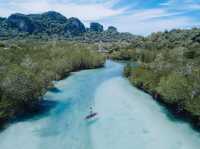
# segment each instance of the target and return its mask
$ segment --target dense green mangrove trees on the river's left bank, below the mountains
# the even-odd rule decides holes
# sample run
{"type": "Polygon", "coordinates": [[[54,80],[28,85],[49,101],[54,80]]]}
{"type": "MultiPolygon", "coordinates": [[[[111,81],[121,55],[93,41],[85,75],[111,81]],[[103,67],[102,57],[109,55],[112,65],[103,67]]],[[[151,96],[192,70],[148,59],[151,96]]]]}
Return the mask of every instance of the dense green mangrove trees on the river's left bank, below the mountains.
{"type": "Polygon", "coordinates": [[[0,43],[0,123],[34,111],[52,80],[71,71],[101,67],[97,47],[66,41],[0,43]]]}

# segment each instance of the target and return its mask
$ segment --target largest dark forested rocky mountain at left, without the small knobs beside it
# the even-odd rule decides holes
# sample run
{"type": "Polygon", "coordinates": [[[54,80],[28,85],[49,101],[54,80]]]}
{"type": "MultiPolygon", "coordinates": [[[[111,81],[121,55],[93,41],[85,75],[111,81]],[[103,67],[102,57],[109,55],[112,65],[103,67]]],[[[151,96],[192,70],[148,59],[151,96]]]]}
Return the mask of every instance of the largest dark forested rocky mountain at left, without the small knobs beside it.
{"type": "Polygon", "coordinates": [[[23,34],[24,37],[27,35],[73,37],[86,31],[85,26],[78,19],[67,19],[54,11],[30,15],[12,14],[8,19],[1,19],[0,26],[2,28],[0,37],[7,38],[19,38],[19,34],[23,34]]]}

